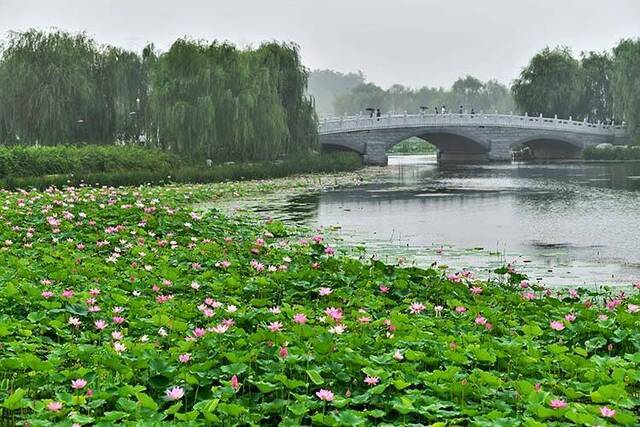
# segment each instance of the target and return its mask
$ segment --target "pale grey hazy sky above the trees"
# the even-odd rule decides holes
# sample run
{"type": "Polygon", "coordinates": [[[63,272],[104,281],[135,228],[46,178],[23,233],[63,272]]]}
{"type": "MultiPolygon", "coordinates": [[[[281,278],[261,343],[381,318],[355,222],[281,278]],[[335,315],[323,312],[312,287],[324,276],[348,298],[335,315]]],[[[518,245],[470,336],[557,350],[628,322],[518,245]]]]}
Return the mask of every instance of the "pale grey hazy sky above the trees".
{"type": "Polygon", "coordinates": [[[640,0],[0,0],[0,34],[59,27],[166,49],[177,37],[295,41],[311,69],[362,70],[382,86],[509,83],[538,50],[640,37],[640,0]]]}

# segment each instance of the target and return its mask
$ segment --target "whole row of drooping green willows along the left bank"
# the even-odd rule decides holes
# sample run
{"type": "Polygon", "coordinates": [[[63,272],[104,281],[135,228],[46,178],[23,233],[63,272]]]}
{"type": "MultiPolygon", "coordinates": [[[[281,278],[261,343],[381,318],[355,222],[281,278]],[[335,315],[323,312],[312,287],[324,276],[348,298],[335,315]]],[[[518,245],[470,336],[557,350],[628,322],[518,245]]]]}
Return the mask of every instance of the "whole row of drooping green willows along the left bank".
{"type": "Polygon", "coordinates": [[[141,54],[64,31],[12,33],[0,52],[0,144],[138,142],[194,159],[272,159],[316,144],[292,44],[179,39],[141,54]]]}

